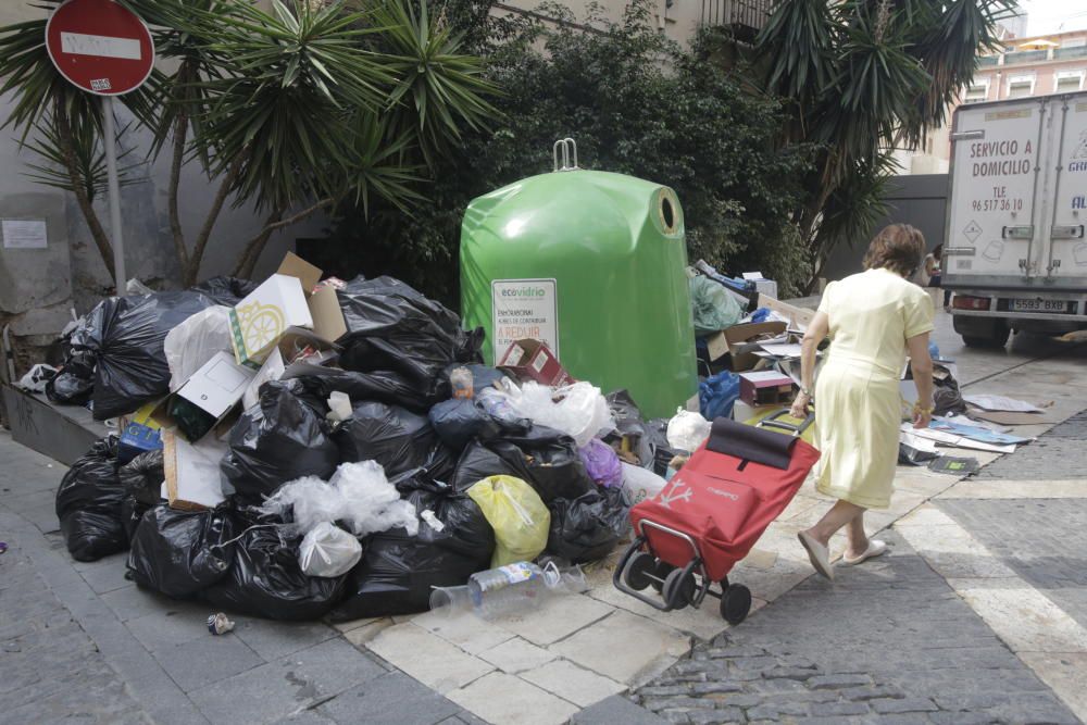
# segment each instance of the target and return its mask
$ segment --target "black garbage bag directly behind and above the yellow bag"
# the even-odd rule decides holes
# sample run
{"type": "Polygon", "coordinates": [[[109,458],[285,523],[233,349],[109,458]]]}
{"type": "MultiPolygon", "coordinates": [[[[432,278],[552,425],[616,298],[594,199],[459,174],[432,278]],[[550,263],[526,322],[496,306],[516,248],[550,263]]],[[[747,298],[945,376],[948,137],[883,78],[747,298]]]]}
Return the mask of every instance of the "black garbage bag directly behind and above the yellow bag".
{"type": "Polygon", "coordinates": [[[585,471],[574,439],[541,425],[523,435],[470,443],[457,462],[453,486],[463,491],[488,476],[501,475],[526,482],[544,503],[576,499],[597,487],[585,471]]]}

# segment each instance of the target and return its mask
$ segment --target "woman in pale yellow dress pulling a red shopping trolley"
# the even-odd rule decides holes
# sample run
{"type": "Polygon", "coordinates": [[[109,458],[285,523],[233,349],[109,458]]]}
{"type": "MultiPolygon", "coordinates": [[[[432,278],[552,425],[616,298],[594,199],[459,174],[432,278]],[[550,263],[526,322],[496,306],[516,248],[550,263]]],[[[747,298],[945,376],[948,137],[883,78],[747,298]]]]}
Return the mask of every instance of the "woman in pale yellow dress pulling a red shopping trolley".
{"type": "Polygon", "coordinates": [[[902,417],[899,378],[908,352],[920,397],[913,427],[926,428],[932,420],[933,302],[909,282],[924,252],[925,238],[912,226],[884,228],[864,257],[865,272],[827,285],[804,335],[802,386],[792,414],[802,417],[813,400],[815,351],[829,336],[814,389],[816,448],[822,452],[816,488],[838,502],[798,536],[812,565],[830,579],[830,537],[842,526],[848,534],[845,563],[859,564],[887,549],[864,533],[864,512],[890,504],[902,417]]]}

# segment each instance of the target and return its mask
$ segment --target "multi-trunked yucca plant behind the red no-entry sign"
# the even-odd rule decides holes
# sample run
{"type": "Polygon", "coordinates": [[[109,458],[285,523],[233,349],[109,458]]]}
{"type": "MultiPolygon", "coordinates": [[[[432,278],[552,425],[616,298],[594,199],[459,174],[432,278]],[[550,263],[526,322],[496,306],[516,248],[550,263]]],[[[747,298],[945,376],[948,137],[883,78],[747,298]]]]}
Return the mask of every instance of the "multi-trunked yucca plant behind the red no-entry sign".
{"type": "MultiPolygon", "coordinates": [[[[272,0],[268,11],[249,0],[120,1],[152,27],[172,68],[123,100],[152,132],[149,158],[168,154],[170,227],[185,285],[199,279],[227,203],[252,204],[264,218],[233,268],[249,275],[276,230],[321,210],[367,208],[371,197],[405,209],[417,202],[427,161],[461,125],[493,116],[482,61],[412,0],[272,0]],[[180,204],[189,163],[216,187],[191,240],[182,220],[192,210],[180,204]]],[[[88,193],[101,186],[100,166],[86,161],[87,143],[101,133],[97,99],[52,67],[45,21],[0,28],[0,79],[20,97],[7,123],[24,139],[48,118],[51,133],[26,147],[45,161],[35,178],[58,185],[60,165],[112,274],[88,193]]]]}

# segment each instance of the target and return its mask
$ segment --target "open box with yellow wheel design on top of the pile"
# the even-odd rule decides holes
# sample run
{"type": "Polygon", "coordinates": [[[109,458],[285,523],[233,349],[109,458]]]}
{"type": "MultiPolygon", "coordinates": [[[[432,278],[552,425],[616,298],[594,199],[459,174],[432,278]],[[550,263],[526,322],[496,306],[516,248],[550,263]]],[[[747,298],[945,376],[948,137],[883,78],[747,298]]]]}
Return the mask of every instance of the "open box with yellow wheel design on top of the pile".
{"type": "Polygon", "coordinates": [[[279,268],[230,310],[235,360],[259,370],[291,328],[312,329],[326,342],[347,333],[335,285],[318,285],[321,270],[287,253],[279,268]]]}

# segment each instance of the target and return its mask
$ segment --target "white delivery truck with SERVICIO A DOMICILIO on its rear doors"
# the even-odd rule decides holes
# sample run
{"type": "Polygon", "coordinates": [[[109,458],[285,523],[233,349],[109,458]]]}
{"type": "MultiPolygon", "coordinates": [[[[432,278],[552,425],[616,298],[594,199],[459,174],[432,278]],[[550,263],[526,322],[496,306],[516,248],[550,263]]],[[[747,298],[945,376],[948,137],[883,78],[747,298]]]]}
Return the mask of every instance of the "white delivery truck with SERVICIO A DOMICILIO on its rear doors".
{"type": "Polygon", "coordinates": [[[1087,327],[1087,92],[960,107],[942,284],[966,345],[1087,327]]]}

